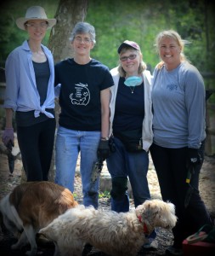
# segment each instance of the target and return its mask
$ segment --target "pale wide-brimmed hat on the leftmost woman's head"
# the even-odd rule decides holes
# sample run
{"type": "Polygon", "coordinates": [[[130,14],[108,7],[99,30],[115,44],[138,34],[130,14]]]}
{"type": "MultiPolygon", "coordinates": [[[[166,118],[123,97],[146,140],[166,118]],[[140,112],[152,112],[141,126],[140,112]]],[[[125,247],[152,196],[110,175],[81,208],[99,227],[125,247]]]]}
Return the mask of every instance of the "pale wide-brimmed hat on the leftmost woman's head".
{"type": "Polygon", "coordinates": [[[27,9],[25,18],[18,18],[15,23],[20,29],[25,30],[25,22],[28,20],[46,20],[48,22],[47,28],[51,28],[56,24],[56,19],[48,19],[45,10],[41,6],[31,6],[27,9]]]}

